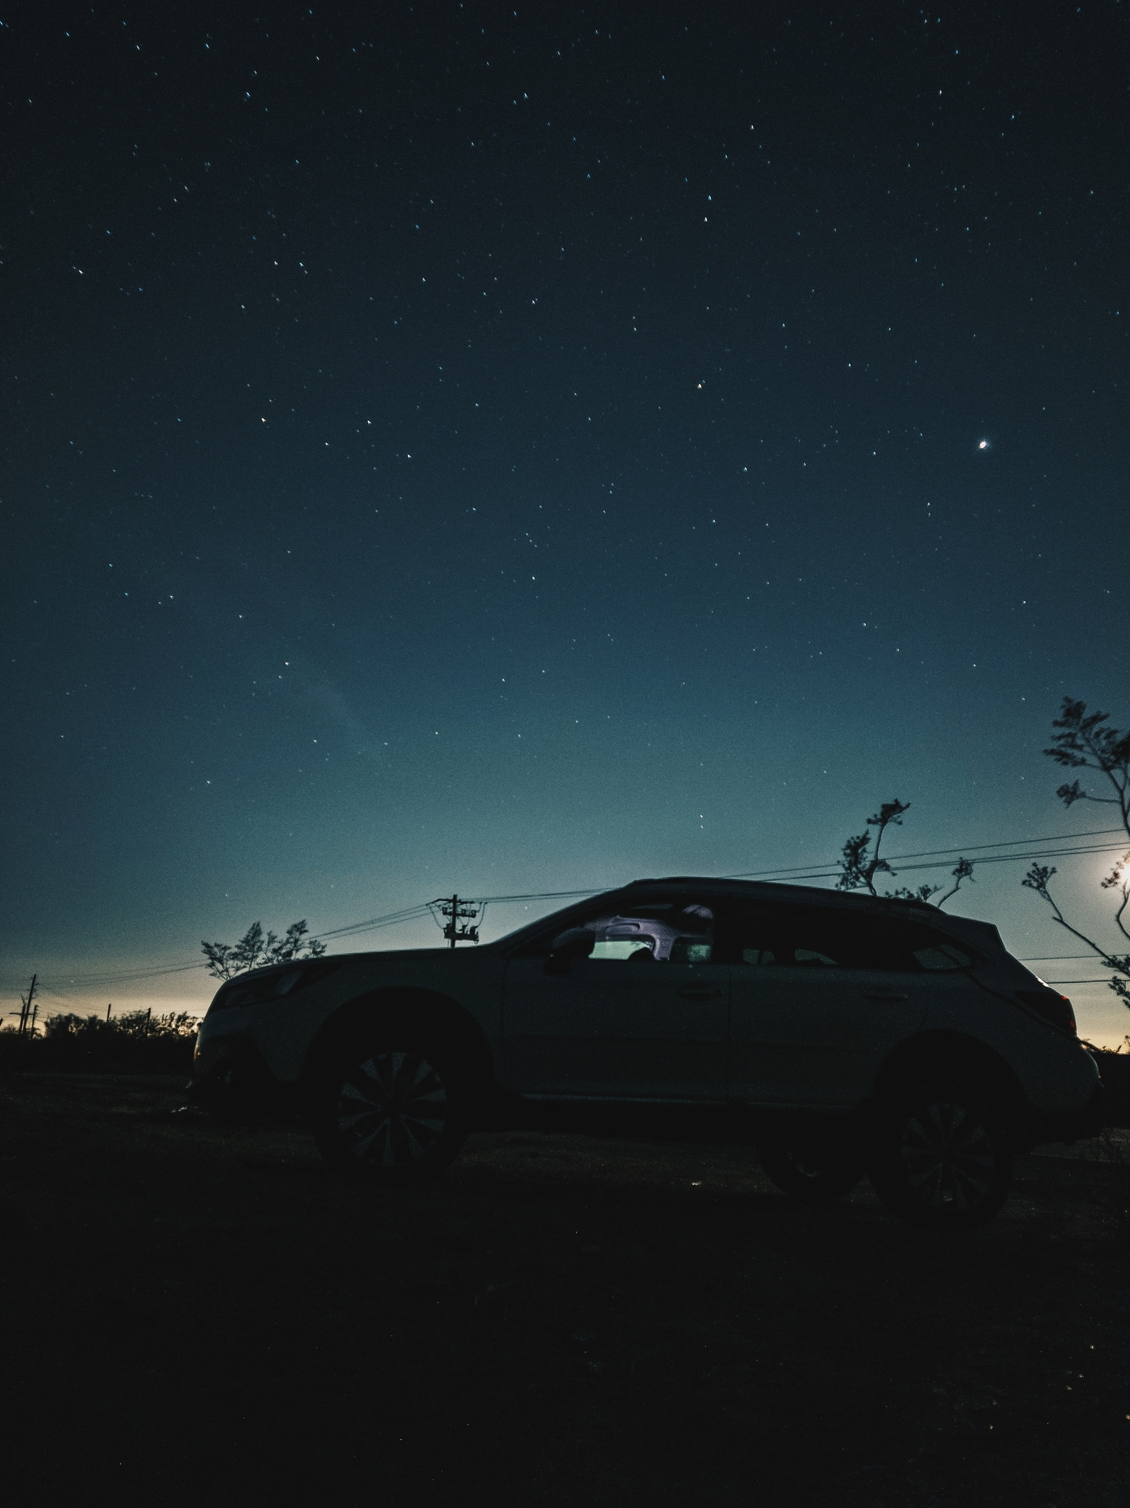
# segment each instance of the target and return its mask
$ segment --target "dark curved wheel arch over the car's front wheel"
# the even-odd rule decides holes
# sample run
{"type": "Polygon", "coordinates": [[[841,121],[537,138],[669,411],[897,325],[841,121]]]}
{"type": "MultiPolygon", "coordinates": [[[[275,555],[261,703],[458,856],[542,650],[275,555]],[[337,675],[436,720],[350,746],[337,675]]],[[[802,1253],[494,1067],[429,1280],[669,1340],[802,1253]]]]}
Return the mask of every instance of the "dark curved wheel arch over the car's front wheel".
{"type": "Polygon", "coordinates": [[[475,1099],[490,1098],[496,1086],[495,1065],[478,1021],[448,995],[404,986],[367,991],[345,1001],[321,1024],[302,1065],[303,1092],[309,1095],[315,1090],[342,1051],[374,1028],[400,1025],[453,1053],[466,1071],[475,1099]]]}

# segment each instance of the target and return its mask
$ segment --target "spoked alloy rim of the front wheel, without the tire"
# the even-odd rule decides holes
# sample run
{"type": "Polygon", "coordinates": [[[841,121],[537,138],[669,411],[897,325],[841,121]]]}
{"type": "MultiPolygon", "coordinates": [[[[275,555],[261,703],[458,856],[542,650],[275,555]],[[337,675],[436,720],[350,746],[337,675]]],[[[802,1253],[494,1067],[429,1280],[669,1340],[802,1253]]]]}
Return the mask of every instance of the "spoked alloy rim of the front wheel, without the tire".
{"type": "Polygon", "coordinates": [[[447,1086],[419,1053],[374,1053],[341,1086],[338,1133],[374,1167],[410,1167],[427,1157],[448,1120],[447,1086]]]}

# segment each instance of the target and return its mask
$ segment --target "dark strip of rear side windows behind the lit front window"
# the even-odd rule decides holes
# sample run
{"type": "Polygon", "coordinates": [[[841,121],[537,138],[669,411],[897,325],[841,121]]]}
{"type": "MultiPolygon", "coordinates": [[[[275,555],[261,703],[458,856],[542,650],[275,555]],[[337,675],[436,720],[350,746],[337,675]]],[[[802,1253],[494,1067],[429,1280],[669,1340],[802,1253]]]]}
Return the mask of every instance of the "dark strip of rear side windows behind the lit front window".
{"type": "Polygon", "coordinates": [[[831,906],[748,906],[718,920],[717,955],[748,968],[941,973],[972,959],[931,927],[831,906]]]}

